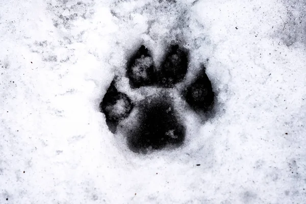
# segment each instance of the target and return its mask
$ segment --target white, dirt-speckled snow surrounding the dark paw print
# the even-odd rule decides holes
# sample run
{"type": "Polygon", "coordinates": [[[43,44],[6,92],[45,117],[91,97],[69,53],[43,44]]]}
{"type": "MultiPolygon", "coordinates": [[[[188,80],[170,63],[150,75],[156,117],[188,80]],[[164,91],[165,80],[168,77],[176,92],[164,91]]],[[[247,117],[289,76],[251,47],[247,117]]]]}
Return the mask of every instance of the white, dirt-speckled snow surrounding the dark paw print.
{"type": "Polygon", "coordinates": [[[0,203],[306,203],[305,9],[1,1],[0,203]],[[175,39],[208,59],[216,113],[186,114],[180,148],[134,154],[98,105],[140,44],[160,63],[175,39]]]}

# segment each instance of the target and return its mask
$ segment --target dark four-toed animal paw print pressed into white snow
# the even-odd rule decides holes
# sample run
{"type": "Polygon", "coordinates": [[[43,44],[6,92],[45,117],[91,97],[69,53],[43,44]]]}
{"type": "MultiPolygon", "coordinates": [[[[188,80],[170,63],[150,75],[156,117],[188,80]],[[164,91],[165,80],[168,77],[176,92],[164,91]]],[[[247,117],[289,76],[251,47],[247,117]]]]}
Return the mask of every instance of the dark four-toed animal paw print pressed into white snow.
{"type": "Polygon", "coordinates": [[[132,91],[143,98],[118,91],[118,76],[112,81],[100,111],[105,114],[109,130],[116,133],[119,128],[132,151],[146,153],[183,144],[186,124],[177,111],[180,107],[175,98],[181,98],[197,114],[212,110],[215,93],[205,67],[187,83],[188,60],[188,50],[174,44],[168,48],[161,65],[156,66],[150,51],[141,45],[127,62],[126,77],[132,91]],[[150,90],[154,94],[148,94],[150,90]]]}

